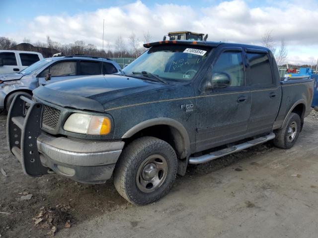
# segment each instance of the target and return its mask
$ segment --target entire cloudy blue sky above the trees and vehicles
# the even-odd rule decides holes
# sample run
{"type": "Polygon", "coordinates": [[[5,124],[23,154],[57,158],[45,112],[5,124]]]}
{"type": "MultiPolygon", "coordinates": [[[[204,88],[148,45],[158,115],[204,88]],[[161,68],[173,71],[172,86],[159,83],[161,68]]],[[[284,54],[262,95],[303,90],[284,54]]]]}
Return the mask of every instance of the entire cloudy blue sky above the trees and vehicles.
{"type": "Polygon", "coordinates": [[[210,41],[261,45],[271,32],[276,48],[285,41],[288,63],[318,59],[318,0],[0,0],[0,36],[20,43],[83,40],[113,48],[134,32],[140,43],[170,31],[208,33],[210,41]]]}

